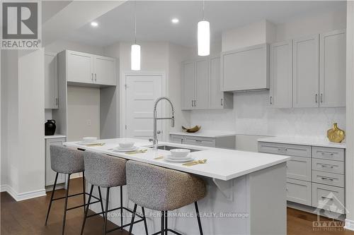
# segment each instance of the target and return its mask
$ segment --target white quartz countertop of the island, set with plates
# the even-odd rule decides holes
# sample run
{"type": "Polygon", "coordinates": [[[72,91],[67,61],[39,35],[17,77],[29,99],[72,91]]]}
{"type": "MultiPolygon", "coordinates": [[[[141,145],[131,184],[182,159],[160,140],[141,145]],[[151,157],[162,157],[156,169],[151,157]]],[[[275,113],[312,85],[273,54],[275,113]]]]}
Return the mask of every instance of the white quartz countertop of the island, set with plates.
{"type": "Polygon", "coordinates": [[[145,162],[148,164],[154,164],[169,169],[176,169],[178,171],[185,171],[192,174],[198,174],[200,176],[207,176],[214,179],[220,179],[227,181],[239,176],[272,167],[276,164],[286,162],[290,159],[288,156],[283,155],[270,155],[260,152],[244,152],[237,150],[226,150],[215,147],[200,147],[195,145],[183,145],[176,143],[160,142],[159,145],[171,145],[175,147],[187,147],[200,150],[198,152],[191,152],[190,155],[195,159],[207,159],[206,164],[197,164],[191,167],[183,166],[182,163],[167,162],[165,159],[154,159],[156,157],[169,155],[169,151],[157,150],[154,151],[151,148],[145,153],[137,153],[128,155],[125,152],[116,152],[114,147],[118,147],[118,143],[132,141],[135,142],[135,146],[141,149],[151,146],[147,140],[138,140],[130,138],[117,138],[100,140],[100,143],[105,143],[103,146],[86,146],[80,142],[64,143],[68,147],[79,147],[84,150],[90,150],[93,152],[101,152],[116,157],[122,157],[125,159],[135,160],[139,162],[145,162]]]}

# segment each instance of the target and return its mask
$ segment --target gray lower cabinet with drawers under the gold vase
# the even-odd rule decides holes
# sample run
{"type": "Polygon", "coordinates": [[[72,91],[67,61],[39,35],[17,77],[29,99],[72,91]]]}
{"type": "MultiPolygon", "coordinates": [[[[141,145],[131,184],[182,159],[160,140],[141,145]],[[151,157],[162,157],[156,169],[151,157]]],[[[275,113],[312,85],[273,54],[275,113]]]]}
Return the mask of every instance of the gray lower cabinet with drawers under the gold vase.
{"type": "Polygon", "coordinates": [[[292,156],[287,162],[287,200],[345,213],[345,150],[258,142],[258,152],[292,156]]]}

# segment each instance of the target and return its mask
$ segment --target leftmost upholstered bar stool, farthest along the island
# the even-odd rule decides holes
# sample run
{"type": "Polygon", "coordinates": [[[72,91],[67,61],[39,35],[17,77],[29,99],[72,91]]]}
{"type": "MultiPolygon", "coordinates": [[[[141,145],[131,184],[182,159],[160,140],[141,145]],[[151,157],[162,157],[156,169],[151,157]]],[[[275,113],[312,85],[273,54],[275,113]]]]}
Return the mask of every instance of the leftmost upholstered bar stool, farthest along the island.
{"type": "MultiPolygon", "coordinates": [[[[84,207],[86,205],[85,196],[88,193],[85,192],[84,152],[80,151],[80,150],[74,150],[69,147],[64,147],[62,145],[50,145],[50,164],[51,164],[52,170],[57,172],[57,174],[55,175],[55,182],[54,182],[54,186],[53,186],[52,195],[50,197],[50,203],[49,203],[49,207],[48,207],[48,211],[47,211],[47,217],[45,218],[45,225],[47,225],[48,217],[50,214],[50,208],[52,207],[52,202],[54,200],[59,200],[59,199],[65,198],[63,224],[62,224],[62,234],[64,234],[67,211],[73,210],[73,209],[76,209],[79,207],[84,207]],[[74,173],[79,173],[79,172],[82,172],[83,192],[69,195],[70,176],[74,173]],[[57,186],[57,179],[58,179],[59,173],[67,174],[67,176],[68,176],[67,177],[67,179],[68,179],[67,191],[66,191],[66,194],[64,197],[54,198],[55,186],[57,186]],[[71,207],[71,208],[67,208],[68,198],[71,198],[71,197],[74,197],[77,195],[83,195],[84,204],[77,205],[77,206],[71,207]]],[[[101,189],[98,188],[98,191],[100,192],[100,198],[95,197],[95,199],[97,199],[97,200],[93,203],[101,202],[101,207],[103,209],[101,189]]],[[[93,203],[91,203],[91,204],[93,204],[93,203]]]]}

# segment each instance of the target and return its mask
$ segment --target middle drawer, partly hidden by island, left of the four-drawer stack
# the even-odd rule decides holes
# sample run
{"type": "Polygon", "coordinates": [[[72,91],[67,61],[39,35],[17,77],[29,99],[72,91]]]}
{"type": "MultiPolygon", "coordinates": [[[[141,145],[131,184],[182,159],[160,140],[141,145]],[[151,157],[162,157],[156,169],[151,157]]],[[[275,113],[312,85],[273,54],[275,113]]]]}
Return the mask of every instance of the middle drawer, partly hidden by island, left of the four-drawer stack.
{"type": "Polygon", "coordinates": [[[287,161],[287,178],[311,181],[311,158],[292,157],[287,161]]]}

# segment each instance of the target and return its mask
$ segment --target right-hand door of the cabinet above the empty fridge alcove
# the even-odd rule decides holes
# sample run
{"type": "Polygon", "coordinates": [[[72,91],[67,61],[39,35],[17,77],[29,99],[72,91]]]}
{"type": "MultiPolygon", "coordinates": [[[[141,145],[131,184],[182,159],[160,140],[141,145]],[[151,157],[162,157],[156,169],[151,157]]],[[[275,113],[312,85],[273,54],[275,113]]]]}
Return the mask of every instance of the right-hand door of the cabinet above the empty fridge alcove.
{"type": "Polygon", "coordinates": [[[94,56],[94,80],[101,85],[115,85],[115,59],[105,56],[94,56]]]}

